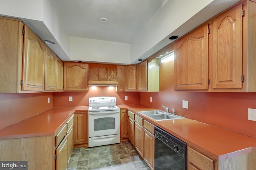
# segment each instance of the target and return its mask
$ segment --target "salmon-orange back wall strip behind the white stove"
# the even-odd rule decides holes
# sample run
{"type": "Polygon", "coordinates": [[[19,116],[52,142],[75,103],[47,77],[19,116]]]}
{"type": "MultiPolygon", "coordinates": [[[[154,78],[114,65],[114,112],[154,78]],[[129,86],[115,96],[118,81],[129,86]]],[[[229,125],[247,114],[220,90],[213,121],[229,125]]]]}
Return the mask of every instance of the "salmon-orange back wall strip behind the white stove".
{"type": "Polygon", "coordinates": [[[111,96],[116,97],[116,104],[139,104],[140,92],[116,92],[115,87],[89,86],[88,92],[54,92],[53,107],[89,106],[90,97],[111,96]],[[73,101],[69,102],[68,97],[73,101]],[[128,96],[128,100],[124,100],[128,96]]]}

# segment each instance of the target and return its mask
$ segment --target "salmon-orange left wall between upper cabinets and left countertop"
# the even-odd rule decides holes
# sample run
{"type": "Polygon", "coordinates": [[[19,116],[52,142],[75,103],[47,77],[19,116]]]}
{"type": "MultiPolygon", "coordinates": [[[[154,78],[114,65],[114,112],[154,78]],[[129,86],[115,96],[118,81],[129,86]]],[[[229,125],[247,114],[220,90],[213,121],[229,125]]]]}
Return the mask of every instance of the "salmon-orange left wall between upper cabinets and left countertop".
{"type": "Polygon", "coordinates": [[[0,93],[0,129],[51,109],[52,106],[52,93],[0,93]]]}

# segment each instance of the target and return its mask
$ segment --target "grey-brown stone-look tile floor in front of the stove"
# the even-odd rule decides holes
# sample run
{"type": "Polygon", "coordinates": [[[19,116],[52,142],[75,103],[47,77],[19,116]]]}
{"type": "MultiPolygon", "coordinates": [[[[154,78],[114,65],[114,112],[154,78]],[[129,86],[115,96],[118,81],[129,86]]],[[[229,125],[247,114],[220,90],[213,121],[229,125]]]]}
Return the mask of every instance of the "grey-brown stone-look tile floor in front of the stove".
{"type": "Polygon", "coordinates": [[[150,170],[130,141],[74,148],[68,170],[150,170]]]}

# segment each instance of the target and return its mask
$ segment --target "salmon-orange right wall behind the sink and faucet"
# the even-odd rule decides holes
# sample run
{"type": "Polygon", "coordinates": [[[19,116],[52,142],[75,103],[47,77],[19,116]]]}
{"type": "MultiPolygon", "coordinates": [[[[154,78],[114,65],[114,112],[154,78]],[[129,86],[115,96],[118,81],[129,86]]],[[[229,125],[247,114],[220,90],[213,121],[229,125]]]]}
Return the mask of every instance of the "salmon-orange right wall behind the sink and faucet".
{"type": "Polygon", "coordinates": [[[248,108],[256,109],[256,93],[176,92],[173,66],[173,61],[160,64],[160,92],[141,92],[140,104],[161,110],[164,104],[177,115],[256,138],[256,121],[248,120],[248,108]]]}

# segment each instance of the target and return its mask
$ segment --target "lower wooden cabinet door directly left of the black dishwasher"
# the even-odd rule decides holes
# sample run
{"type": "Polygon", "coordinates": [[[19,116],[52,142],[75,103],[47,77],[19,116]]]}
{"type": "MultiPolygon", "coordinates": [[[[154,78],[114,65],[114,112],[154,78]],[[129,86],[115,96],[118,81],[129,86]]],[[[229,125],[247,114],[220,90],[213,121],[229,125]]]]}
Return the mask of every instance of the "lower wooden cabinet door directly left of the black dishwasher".
{"type": "Polygon", "coordinates": [[[143,155],[146,164],[148,167],[153,170],[154,169],[154,154],[155,154],[155,136],[147,131],[145,128],[143,129],[143,155]]]}

